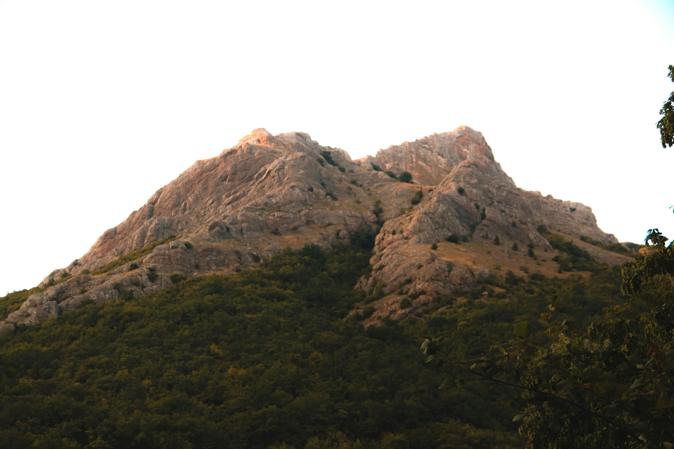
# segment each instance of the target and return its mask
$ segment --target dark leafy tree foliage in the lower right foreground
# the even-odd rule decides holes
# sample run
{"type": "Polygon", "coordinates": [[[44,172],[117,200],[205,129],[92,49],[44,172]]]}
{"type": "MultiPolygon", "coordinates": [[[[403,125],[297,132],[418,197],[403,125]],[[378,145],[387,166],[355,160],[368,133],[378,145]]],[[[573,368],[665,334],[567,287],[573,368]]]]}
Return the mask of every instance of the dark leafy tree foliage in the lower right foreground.
{"type": "Polygon", "coordinates": [[[671,449],[674,245],[665,246],[658,230],[646,240],[656,250],[622,269],[632,302],[607,308],[607,320],[578,332],[573,320],[556,320],[563,301],[553,294],[541,314],[544,338],[523,320],[512,339],[472,359],[447,355],[439,338],[429,338],[422,345],[427,361],[450,364],[501,394],[503,405],[520,411],[514,422],[528,448],[671,449]]]}

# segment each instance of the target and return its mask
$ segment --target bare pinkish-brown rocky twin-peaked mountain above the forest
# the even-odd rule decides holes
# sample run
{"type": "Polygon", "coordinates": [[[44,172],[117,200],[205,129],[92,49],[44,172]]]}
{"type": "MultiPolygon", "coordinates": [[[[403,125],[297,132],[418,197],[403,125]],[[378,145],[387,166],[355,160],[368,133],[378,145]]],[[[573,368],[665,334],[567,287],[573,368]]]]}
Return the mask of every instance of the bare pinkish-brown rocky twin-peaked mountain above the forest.
{"type": "Polygon", "coordinates": [[[40,283],[44,291],[0,321],[0,333],[42,322],[83,300],[106,302],[122,292],[163,289],[171,285],[171,275],[257,266],[286,246],[312,243],[330,250],[359,228],[376,231],[381,221],[373,275],[359,286],[386,293],[404,283],[410,291],[427,293],[403,310],[400,300],[386,297],[369,322],[377,316],[401,318],[434,295],[471,287],[490,275],[485,267],[468,268],[429,249],[451,235],[474,242],[499,236],[504,244],[551,250],[536,230],[545,224],[572,236],[617,242],[596,226],[589,207],[517,188],[482,134],[468,127],[357,161],[305,133],[272,136],[255,129],[216,158],[195,162],[104,232],[78,261],[50,273],[40,283]],[[372,164],[396,174],[408,171],[417,185],[398,182],[372,164]],[[166,243],[148,250],[162,239],[166,243]],[[137,257],[128,255],[143,248],[137,257]],[[124,263],[100,273],[123,255],[124,263]]]}

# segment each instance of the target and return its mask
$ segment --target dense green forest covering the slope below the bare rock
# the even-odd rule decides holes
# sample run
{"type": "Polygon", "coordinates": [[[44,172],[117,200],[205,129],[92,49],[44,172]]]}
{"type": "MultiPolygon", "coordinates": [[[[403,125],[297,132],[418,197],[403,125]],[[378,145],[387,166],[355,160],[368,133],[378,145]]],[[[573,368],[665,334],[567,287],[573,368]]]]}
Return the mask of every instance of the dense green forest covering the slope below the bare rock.
{"type": "Polygon", "coordinates": [[[443,307],[454,298],[439,297],[423,318],[363,329],[345,316],[364,298],[354,285],[371,269],[370,254],[357,245],[329,254],[305,246],[261,269],[90,302],[1,336],[0,362],[10,368],[0,390],[0,441],[11,448],[522,447],[514,412],[498,395],[439,388],[456,372],[425,363],[425,336],[441,335],[453,357],[470,357],[524,319],[532,338],[545,339],[539,314],[550,293],[560,294],[561,314],[583,323],[625,300],[619,267],[591,261],[589,277],[492,278],[512,301],[443,307]]]}

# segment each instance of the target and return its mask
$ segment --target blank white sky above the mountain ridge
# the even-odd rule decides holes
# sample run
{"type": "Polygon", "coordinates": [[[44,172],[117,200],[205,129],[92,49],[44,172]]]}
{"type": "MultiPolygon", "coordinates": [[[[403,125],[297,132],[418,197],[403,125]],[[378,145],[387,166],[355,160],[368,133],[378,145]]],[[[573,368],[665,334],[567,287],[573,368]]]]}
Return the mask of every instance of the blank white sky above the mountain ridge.
{"type": "Polygon", "coordinates": [[[468,125],[518,186],[674,237],[674,2],[0,0],[0,292],[252,129],[352,158],[468,125]]]}

